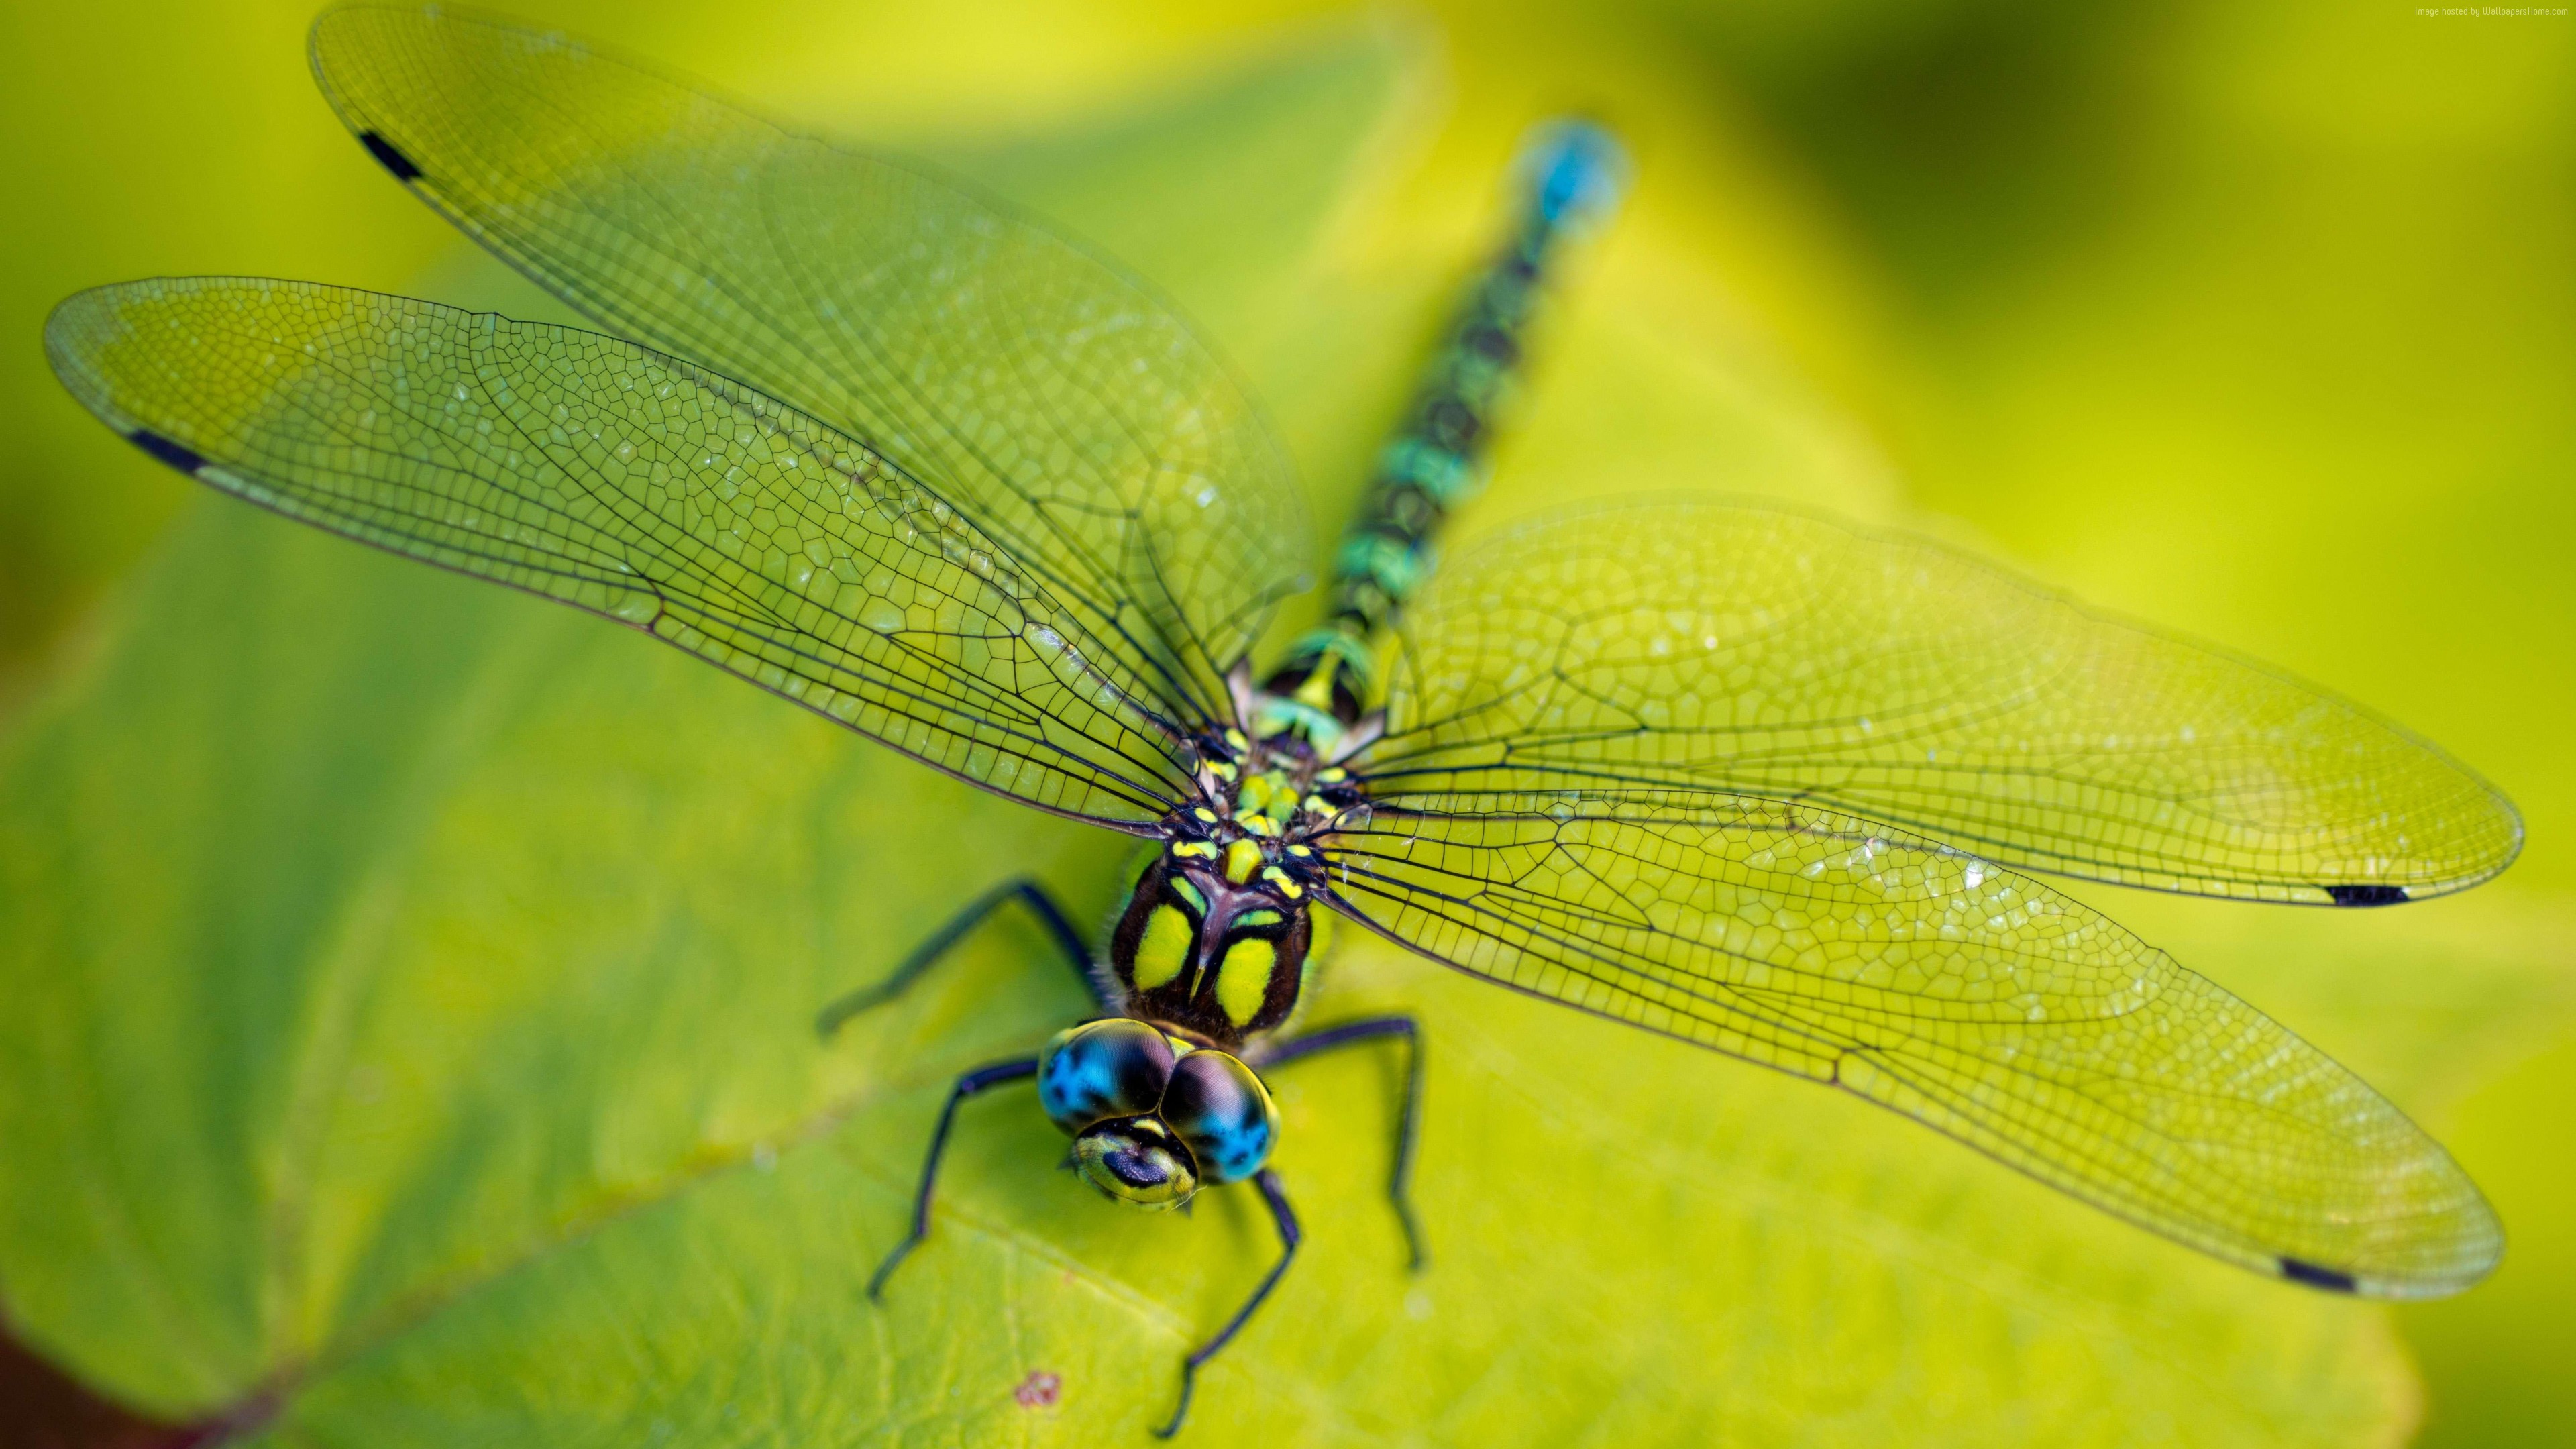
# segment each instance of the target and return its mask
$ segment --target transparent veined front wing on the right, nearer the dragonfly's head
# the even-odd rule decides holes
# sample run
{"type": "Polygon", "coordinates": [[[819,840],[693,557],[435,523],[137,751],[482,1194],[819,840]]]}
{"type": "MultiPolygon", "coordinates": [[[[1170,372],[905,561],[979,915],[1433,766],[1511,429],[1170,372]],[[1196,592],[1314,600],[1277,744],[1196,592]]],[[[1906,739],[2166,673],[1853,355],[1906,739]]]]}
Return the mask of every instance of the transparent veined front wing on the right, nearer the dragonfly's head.
{"type": "Polygon", "coordinates": [[[1340,910],[1450,967],[1834,1083],[2192,1248],[2375,1297],[2501,1250],[2360,1078],[2084,905],[1772,799],[1453,794],[1329,841],[1340,910]]]}

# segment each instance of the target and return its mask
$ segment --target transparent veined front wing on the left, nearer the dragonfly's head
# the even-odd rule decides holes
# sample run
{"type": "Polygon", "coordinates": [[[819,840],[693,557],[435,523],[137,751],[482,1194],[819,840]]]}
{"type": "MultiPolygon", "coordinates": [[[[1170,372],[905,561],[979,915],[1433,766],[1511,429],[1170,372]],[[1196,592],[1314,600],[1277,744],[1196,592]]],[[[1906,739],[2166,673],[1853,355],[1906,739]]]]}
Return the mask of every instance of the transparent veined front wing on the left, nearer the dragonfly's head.
{"type": "Polygon", "coordinates": [[[64,387],[201,482],[680,645],[956,776],[1144,828],[1146,681],[963,511],[634,343],[294,281],[82,291],[64,387]]]}

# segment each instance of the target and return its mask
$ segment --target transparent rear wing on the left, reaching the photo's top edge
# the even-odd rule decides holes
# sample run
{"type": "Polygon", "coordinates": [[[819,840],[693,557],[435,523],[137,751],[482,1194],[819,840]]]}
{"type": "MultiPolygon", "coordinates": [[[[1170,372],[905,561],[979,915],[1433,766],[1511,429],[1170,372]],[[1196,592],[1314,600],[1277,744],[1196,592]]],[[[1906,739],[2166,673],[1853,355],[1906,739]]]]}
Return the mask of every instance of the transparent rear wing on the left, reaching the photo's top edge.
{"type": "Polygon", "coordinates": [[[1203,717],[1306,588],[1270,428],[1170,304],[951,180],[788,134],[554,34],[435,8],[314,21],[397,175],[598,317],[866,441],[1203,717]]]}

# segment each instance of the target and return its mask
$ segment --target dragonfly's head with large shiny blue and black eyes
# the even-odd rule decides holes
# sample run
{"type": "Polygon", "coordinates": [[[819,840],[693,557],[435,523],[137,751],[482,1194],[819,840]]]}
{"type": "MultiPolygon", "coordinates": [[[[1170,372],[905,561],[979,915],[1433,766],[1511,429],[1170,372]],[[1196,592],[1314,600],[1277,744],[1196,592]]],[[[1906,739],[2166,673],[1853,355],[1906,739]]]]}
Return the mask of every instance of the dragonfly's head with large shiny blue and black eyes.
{"type": "Polygon", "coordinates": [[[1038,1104],[1072,1134],[1082,1181],[1136,1207],[1249,1178],[1278,1140],[1252,1067],[1128,1016],[1059,1031],[1038,1055],[1038,1104]]]}

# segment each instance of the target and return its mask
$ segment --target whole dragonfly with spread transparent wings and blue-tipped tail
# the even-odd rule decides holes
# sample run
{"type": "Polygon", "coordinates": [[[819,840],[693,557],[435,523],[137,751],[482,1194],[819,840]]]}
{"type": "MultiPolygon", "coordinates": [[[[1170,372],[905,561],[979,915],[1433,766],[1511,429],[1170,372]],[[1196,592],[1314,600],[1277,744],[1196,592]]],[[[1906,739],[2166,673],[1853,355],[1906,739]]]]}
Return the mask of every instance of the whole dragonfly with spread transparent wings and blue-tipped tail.
{"type": "MultiPolygon", "coordinates": [[[[930,168],[804,137],[608,49],[353,5],[314,75],[363,150],[592,330],[301,281],[157,278],[46,322],[62,384],[209,487],[641,629],[920,763],[1131,838],[1092,941],[987,895],[822,1026],[1023,902],[1095,993],[1033,1083],[1136,1207],[1267,1165],[1262,1073],[1332,923],[1847,1091],[2177,1243],[2437,1297],[2496,1217],[2393,1104],[2050,877],[2396,905],[2522,843],[2473,771],[2318,686],[1963,552],[1710,498],[1543,516],[1432,567],[1553,248],[1620,162],[1540,147],[1502,260],[1309,593],[1288,454],[1182,315],[930,168]]],[[[1716,1091],[1716,1078],[1710,1080],[1716,1091]]],[[[1340,1142],[1337,1142],[1340,1145],[1340,1142]]]]}

